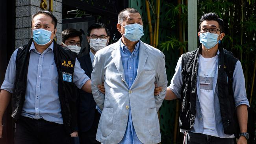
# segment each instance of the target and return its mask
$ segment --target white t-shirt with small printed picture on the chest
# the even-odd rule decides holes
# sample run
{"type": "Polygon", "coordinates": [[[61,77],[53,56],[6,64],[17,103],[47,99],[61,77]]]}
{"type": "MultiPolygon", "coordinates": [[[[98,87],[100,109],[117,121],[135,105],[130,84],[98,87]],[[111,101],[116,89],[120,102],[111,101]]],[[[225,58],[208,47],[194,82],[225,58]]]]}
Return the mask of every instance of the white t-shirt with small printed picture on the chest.
{"type": "Polygon", "coordinates": [[[204,124],[203,134],[218,137],[215,129],[214,115],[214,90],[216,87],[214,78],[217,70],[218,56],[204,58],[200,54],[198,59],[197,96],[202,112],[204,124]],[[214,85],[215,83],[215,85],[214,85]]]}

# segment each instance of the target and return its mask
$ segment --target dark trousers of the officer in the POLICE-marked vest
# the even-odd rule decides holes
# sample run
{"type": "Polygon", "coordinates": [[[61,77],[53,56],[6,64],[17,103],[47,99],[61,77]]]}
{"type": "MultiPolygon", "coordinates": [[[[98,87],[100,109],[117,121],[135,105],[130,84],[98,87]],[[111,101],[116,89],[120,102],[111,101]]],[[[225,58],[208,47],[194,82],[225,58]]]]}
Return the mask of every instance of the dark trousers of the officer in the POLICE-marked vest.
{"type": "Polygon", "coordinates": [[[16,122],[15,144],[70,144],[63,124],[20,116],[16,122]]]}

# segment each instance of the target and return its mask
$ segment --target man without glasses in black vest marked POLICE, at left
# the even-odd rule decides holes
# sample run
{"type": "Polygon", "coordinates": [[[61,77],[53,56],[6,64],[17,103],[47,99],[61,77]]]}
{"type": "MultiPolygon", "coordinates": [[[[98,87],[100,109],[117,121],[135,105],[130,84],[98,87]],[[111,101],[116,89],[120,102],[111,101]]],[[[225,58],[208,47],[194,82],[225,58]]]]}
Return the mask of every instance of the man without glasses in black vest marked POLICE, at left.
{"type": "Polygon", "coordinates": [[[70,144],[76,126],[75,87],[91,93],[91,80],[76,53],[54,41],[57,19],[48,11],[32,16],[32,37],[11,56],[0,92],[2,116],[13,101],[15,144],[70,144]]]}

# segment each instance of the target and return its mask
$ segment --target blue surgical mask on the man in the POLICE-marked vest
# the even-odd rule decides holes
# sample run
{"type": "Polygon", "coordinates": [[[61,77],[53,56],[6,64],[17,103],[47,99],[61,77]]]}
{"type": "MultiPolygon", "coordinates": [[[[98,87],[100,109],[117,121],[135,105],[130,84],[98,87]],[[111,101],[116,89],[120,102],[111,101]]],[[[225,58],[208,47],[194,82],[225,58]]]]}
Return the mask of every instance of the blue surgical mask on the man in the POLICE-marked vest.
{"type": "Polygon", "coordinates": [[[38,45],[45,45],[48,44],[51,39],[52,31],[45,30],[43,28],[34,29],[33,30],[33,40],[38,45]]]}

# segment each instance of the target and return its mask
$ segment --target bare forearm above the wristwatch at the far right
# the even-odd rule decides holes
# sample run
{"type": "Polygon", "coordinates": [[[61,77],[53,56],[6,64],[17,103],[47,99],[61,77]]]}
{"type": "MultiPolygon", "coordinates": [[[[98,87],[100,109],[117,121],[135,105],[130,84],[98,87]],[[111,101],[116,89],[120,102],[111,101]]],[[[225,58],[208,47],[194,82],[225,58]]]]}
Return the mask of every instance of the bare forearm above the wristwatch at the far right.
{"type": "Polygon", "coordinates": [[[248,120],[247,105],[237,106],[236,114],[239,122],[240,132],[245,133],[247,131],[247,120],[248,120]]]}

